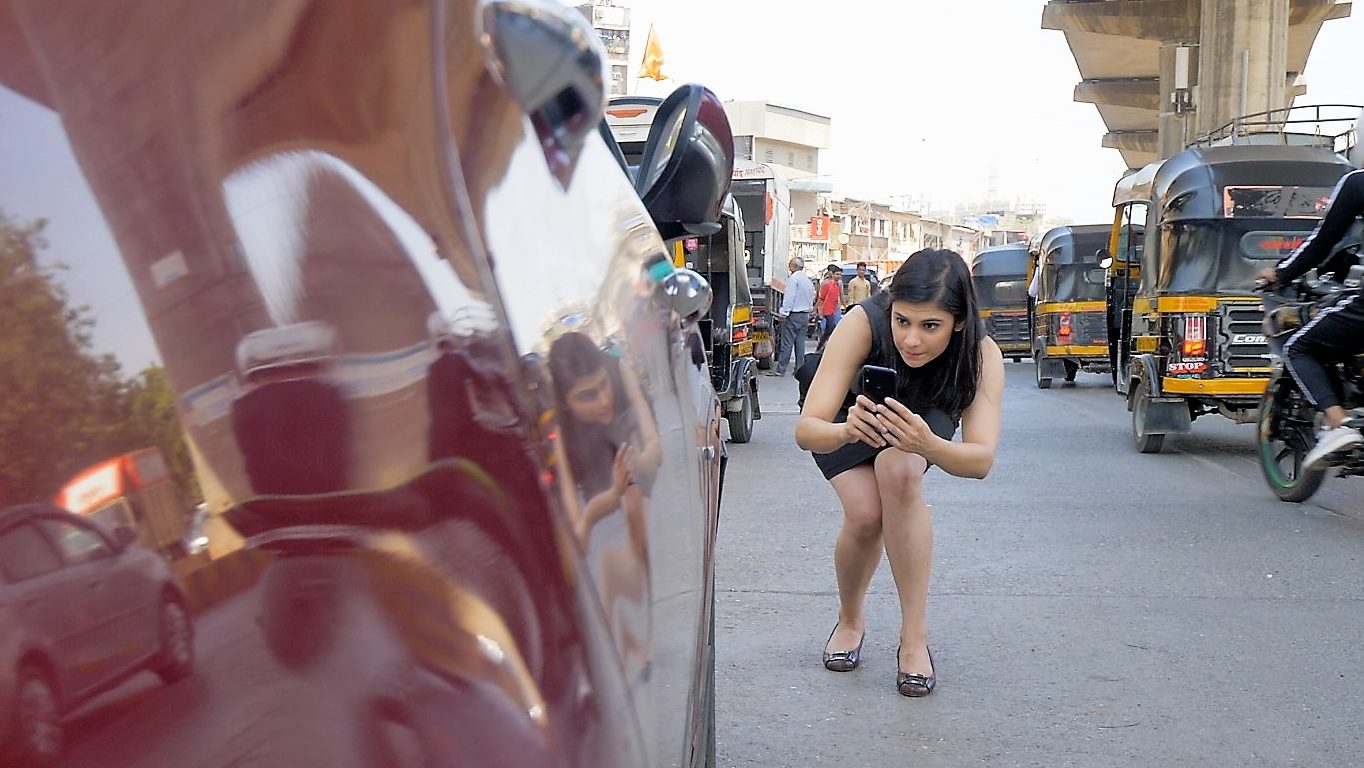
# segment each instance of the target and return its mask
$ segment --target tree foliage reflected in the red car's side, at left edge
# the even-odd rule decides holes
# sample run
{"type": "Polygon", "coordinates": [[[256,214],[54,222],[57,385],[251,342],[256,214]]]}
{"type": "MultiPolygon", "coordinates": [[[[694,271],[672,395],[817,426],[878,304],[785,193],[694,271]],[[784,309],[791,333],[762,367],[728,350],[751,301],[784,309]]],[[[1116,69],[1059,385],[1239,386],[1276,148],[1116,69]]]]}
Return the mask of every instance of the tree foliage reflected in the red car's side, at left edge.
{"type": "Polygon", "coordinates": [[[158,446],[196,492],[175,397],[160,367],[120,378],[91,348],[94,321],[38,259],[45,221],[0,210],[0,507],[50,499],[97,461],[158,446]]]}

